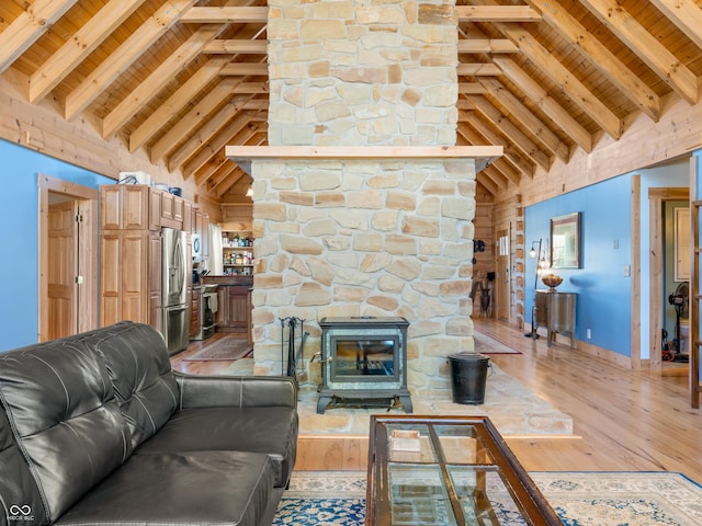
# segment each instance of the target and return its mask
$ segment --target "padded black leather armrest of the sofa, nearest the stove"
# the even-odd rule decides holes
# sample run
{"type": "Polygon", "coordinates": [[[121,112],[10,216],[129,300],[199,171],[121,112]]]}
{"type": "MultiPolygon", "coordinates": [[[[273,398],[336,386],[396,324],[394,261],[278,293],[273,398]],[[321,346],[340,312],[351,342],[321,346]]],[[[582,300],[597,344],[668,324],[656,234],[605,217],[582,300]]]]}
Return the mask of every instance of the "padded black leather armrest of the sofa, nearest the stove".
{"type": "Polygon", "coordinates": [[[180,409],[297,408],[297,382],[284,376],[200,376],[173,371],[180,409]]]}

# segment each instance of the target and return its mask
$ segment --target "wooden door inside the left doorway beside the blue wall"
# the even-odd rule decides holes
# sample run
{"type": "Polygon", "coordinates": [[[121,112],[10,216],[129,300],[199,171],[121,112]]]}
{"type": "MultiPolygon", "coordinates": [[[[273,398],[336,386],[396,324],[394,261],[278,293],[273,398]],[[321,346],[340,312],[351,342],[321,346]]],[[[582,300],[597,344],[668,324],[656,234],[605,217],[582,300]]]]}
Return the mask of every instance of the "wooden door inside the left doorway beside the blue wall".
{"type": "Polygon", "coordinates": [[[48,209],[48,339],[78,332],[79,298],[76,278],[78,254],[78,204],[67,201],[48,209]]]}

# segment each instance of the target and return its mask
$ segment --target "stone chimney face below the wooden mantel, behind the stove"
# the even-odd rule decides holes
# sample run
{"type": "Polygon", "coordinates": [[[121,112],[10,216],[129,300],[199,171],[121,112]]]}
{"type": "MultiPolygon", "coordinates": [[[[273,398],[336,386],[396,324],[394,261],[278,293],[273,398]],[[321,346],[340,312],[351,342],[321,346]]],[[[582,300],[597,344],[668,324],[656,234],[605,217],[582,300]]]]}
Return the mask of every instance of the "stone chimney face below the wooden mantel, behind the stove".
{"type": "MultiPolygon", "coordinates": [[[[254,167],[256,373],[281,370],[280,319],[307,320],[307,362],[324,317],[401,316],[410,390],[449,389],[446,355],[474,348],[474,162],[254,167]]],[[[318,374],[313,364],[310,381],[318,374]]]]}

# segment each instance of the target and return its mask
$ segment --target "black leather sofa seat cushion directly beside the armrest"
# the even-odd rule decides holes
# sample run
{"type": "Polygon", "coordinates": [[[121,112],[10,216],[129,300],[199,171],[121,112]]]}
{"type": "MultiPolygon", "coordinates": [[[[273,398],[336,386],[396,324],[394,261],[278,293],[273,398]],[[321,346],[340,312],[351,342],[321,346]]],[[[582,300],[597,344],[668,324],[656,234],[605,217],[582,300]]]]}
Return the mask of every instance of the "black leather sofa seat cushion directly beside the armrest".
{"type": "Polygon", "coordinates": [[[185,409],[135,453],[264,453],[273,462],[275,485],[284,488],[295,465],[297,427],[297,411],[291,408],[185,409]]]}

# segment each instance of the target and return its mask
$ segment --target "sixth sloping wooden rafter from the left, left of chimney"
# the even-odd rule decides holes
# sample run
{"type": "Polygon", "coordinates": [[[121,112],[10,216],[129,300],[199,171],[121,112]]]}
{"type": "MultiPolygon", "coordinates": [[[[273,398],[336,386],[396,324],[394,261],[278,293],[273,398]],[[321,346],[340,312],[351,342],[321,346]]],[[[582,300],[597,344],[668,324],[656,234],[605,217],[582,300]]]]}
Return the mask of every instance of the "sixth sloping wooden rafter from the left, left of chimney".
{"type": "Polygon", "coordinates": [[[201,99],[191,111],[151,146],[151,162],[163,159],[176,145],[188,137],[193,129],[201,126],[212,112],[231,96],[231,90],[236,87],[237,82],[237,79],[222,79],[219,84],[201,99]]]}

